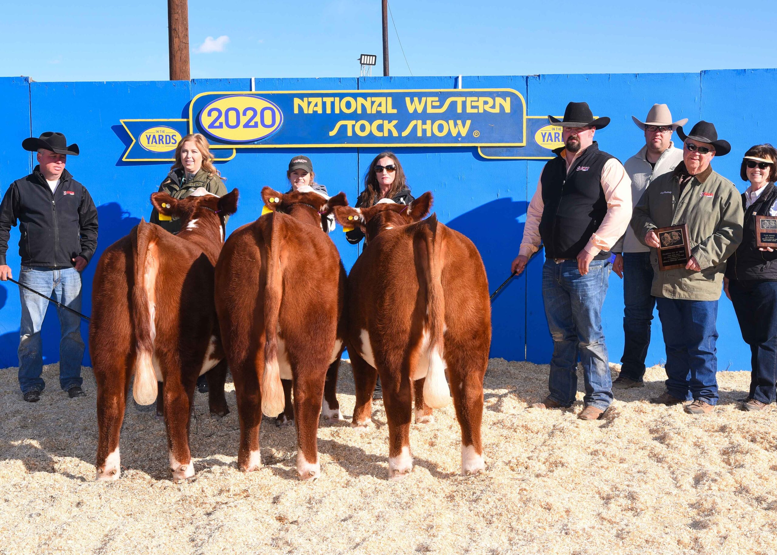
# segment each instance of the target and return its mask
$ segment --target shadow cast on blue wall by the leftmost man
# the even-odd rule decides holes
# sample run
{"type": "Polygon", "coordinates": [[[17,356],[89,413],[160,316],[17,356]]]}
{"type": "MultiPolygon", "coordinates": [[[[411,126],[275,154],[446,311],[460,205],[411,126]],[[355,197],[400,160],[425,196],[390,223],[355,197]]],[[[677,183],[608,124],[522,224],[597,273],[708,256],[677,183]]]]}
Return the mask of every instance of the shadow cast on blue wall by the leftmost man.
{"type": "MultiPolygon", "coordinates": [[[[82,302],[81,312],[85,316],[89,316],[92,313],[92,280],[94,279],[95,269],[97,267],[97,260],[102,256],[106,247],[116,243],[119,239],[126,236],[130,230],[138,225],[140,220],[138,218],[132,218],[127,211],[124,211],[120,204],[116,202],[110,202],[108,204],[102,204],[97,207],[97,218],[99,222],[99,232],[97,236],[97,250],[89,262],[89,266],[82,272],[81,281],[83,284],[82,289],[82,302]]],[[[5,289],[0,288],[0,308],[5,305],[5,289]]],[[[43,336],[44,346],[44,364],[51,364],[53,361],[59,360],[59,341],[61,337],[61,331],[59,326],[59,319],[57,319],[57,307],[54,303],[49,303],[49,308],[46,312],[46,318],[44,319],[44,325],[40,330],[43,336]]],[[[89,338],[89,324],[82,320],[81,323],[81,335],[84,341],[89,338]]],[[[3,354],[3,358],[8,361],[14,360],[14,354],[19,347],[19,329],[10,333],[4,333],[0,336],[0,353],[3,354]]],[[[14,361],[13,365],[17,365],[18,361],[14,361]]],[[[84,354],[84,360],[82,362],[85,366],[92,365],[92,361],[89,358],[89,348],[84,354]]]]}

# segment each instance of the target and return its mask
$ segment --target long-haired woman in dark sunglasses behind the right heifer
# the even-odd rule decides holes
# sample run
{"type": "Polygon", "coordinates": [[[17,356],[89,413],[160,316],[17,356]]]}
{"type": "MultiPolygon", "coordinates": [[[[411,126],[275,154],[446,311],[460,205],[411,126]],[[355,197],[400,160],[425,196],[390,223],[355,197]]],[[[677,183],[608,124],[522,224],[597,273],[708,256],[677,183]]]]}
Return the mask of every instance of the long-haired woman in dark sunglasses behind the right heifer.
{"type": "MultiPolygon", "coordinates": [[[[415,200],[405,180],[402,164],[393,152],[381,152],[372,160],[364,174],[364,190],[354,204],[355,208],[370,208],[379,201],[388,199],[396,204],[410,204],[415,200]]],[[[361,229],[355,228],[345,234],[348,243],[356,244],[364,239],[361,229]]]]}

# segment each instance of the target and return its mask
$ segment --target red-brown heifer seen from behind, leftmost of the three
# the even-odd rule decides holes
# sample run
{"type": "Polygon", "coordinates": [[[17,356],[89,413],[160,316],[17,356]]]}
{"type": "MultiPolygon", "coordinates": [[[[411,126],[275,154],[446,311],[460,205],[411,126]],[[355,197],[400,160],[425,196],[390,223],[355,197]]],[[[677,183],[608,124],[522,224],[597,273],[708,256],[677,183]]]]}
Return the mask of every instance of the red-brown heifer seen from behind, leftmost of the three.
{"type": "Polygon", "coordinates": [[[238,190],[216,197],[204,188],[176,200],[151,196],[160,215],[183,220],[177,236],[141,220],[100,257],[92,293],[89,348],[97,382],[97,479],[121,473],[119,433],[124,403],[162,397],[173,480],[194,475],[189,416],[197,377],[207,372],[212,414],[229,412],[227,364],[213,302],[214,265],[224,244],[225,215],[237,210],[238,190]],[[209,372],[210,371],[210,372],[209,372]]]}

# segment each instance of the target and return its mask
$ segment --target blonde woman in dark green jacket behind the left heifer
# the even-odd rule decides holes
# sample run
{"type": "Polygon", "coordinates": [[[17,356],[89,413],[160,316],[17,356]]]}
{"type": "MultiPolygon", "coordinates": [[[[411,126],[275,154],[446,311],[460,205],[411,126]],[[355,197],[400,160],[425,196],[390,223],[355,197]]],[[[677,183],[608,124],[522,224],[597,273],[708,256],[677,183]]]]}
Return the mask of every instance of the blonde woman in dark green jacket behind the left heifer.
{"type": "MultiPolygon", "coordinates": [[[[182,138],[176,148],[176,162],[159,186],[159,192],[167,193],[173,198],[186,198],[193,190],[204,187],[208,193],[217,197],[227,194],[221,174],[213,166],[213,155],[209,146],[204,135],[200,133],[182,138]]],[[[152,210],[150,222],[161,225],[171,233],[177,233],[181,229],[181,221],[178,218],[160,218],[156,208],[152,210]]],[[[227,222],[226,217],[224,222],[227,222]]]]}

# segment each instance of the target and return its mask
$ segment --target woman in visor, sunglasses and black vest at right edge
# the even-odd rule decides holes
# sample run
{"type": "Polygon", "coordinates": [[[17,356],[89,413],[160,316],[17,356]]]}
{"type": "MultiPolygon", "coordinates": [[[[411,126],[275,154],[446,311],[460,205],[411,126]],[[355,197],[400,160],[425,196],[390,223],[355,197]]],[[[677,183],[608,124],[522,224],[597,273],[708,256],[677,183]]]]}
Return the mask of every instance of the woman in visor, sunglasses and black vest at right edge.
{"type": "MultiPolygon", "coordinates": [[[[750,187],[742,194],[744,234],[729,258],[723,289],[737,312],[742,338],[750,345],[750,394],[742,410],[761,410],[775,400],[777,381],[777,252],[756,244],[756,216],[777,216],[777,150],[755,145],[745,152],[740,176],[750,187]]],[[[770,221],[761,224],[766,227],[770,221]]]]}

